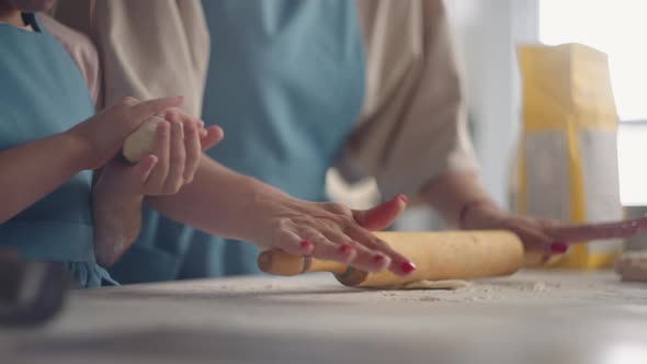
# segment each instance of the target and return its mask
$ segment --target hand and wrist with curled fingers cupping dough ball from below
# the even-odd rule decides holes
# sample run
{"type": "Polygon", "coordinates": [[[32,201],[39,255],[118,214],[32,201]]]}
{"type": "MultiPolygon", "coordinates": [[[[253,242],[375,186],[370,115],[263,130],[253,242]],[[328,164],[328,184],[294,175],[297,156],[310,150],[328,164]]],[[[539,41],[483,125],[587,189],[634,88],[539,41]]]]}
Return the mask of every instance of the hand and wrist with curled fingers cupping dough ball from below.
{"type": "Polygon", "coordinates": [[[219,127],[173,112],[157,127],[151,153],[136,166],[114,158],[100,172],[93,190],[94,247],[98,262],[110,266],[135,241],[145,196],[174,194],[193,181],[203,149],[223,138],[219,127]],[[202,130],[202,132],[201,132],[202,130]]]}

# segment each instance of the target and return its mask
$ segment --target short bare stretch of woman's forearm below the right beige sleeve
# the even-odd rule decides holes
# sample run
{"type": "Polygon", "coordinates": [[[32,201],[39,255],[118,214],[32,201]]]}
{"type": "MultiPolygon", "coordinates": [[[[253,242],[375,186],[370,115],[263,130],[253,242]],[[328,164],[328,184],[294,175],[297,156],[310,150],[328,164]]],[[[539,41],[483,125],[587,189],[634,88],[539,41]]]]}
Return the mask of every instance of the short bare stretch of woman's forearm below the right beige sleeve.
{"type": "Polygon", "coordinates": [[[459,227],[462,215],[470,206],[499,211],[475,173],[446,173],[422,189],[422,198],[435,208],[445,221],[459,227]]]}

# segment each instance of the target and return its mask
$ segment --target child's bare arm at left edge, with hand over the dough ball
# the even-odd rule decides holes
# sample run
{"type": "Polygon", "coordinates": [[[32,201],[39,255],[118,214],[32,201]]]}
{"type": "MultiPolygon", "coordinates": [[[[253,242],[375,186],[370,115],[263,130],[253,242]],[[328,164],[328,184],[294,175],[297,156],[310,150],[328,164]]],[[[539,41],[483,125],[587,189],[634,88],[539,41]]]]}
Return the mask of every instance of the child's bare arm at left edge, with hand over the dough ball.
{"type": "Polygon", "coordinates": [[[0,151],[0,224],[81,170],[105,164],[144,120],[181,102],[160,99],[109,107],[70,130],[0,151]]]}

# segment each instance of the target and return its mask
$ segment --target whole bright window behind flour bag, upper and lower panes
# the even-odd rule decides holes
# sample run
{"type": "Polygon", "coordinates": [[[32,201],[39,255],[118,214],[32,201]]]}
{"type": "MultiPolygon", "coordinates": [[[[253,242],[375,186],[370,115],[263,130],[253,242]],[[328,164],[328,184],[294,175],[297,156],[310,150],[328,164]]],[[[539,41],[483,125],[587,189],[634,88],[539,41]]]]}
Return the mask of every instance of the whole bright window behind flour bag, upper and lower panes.
{"type": "Polygon", "coordinates": [[[647,205],[647,3],[644,0],[540,0],[540,41],[582,43],[609,55],[621,118],[623,205],[647,205]]]}

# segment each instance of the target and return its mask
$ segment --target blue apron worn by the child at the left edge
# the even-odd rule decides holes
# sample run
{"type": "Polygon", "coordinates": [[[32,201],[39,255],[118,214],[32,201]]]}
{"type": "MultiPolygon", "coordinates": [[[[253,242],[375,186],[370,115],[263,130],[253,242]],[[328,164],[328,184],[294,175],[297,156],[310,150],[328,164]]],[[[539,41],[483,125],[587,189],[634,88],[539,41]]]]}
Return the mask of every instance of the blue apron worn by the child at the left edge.
{"type": "MultiPolygon", "coordinates": [[[[0,150],[65,132],[94,114],[69,54],[35,15],[23,18],[35,32],[0,24],[0,150]]],[[[94,260],[91,181],[92,172],[82,171],[0,224],[0,246],[66,264],[81,287],[111,281],[94,260]]]]}

